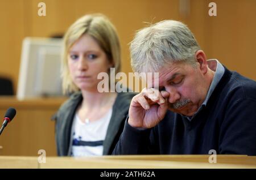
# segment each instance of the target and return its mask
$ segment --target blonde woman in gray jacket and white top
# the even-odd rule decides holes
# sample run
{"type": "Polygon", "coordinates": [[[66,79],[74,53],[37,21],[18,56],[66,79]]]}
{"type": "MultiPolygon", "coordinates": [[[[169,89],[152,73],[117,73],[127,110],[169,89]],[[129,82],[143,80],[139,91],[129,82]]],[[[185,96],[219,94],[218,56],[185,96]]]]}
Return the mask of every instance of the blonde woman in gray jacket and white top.
{"type": "Polygon", "coordinates": [[[123,130],[133,93],[100,93],[100,72],[119,72],[117,32],[106,16],[82,16],[64,36],[64,93],[72,93],[55,115],[58,156],[110,155],[123,130]]]}

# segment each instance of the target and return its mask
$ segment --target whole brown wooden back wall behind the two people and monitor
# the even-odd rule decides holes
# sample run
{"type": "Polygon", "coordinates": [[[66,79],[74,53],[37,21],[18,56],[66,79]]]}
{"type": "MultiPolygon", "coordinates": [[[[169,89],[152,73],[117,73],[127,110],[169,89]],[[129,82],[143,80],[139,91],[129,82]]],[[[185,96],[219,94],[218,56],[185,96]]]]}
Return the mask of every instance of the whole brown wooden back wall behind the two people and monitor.
{"type": "MultiPolygon", "coordinates": [[[[38,16],[42,0],[0,0],[0,75],[18,84],[22,39],[26,36],[48,37],[67,30],[77,18],[101,12],[118,29],[122,45],[123,72],[131,72],[129,46],[134,32],[143,22],[163,19],[182,20],[195,33],[208,58],[218,58],[224,65],[256,79],[256,1],[220,1],[217,16],[208,15],[211,1],[190,1],[190,14],[181,15],[179,0],[45,0],[46,16],[38,16]]],[[[182,0],[181,0],[182,1],[182,0]]]]}

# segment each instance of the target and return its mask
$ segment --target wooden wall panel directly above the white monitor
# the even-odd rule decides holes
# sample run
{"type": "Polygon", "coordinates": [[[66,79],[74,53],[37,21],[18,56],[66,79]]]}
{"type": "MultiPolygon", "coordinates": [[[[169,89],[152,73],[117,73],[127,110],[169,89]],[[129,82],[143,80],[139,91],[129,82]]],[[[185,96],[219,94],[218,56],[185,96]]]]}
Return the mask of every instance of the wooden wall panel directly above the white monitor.
{"type": "Polygon", "coordinates": [[[75,1],[46,0],[46,16],[38,15],[41,0],[26,0],[26,36],[50,37],[62,34],[75,18],[75,1]]]}

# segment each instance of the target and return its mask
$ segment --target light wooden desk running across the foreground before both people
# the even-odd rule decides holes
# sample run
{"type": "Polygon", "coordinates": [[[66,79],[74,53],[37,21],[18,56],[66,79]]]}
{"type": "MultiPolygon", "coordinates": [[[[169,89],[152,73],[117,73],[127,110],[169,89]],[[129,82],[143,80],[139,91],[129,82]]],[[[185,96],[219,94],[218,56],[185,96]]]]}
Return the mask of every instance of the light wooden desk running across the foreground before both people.
{"type": "Polygon", "coordinates": [[[46,157],[46,163],[39,164],[38,157],[0,156],[0,168],[256,168],[256,156],[217,155],[216,164],[210,164],[208,158],[209,155],[46,157]]]}

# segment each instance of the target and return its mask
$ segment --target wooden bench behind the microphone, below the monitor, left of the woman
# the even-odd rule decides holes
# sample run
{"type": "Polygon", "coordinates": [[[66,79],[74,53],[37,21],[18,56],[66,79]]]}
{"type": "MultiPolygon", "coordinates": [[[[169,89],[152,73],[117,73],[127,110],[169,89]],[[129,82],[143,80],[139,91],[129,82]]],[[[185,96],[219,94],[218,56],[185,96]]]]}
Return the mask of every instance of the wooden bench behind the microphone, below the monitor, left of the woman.
{"type": "Polygon", "coordinates": [[[52,115],[67,98],[38,98],[19,101],[15,97],[0,97],[0,117],[9,107],[17,114],[0,136],[0,156],[56,156],[55,122],[52,115]],[[2,148],[1,148],[2,147],[2,148]]]}

